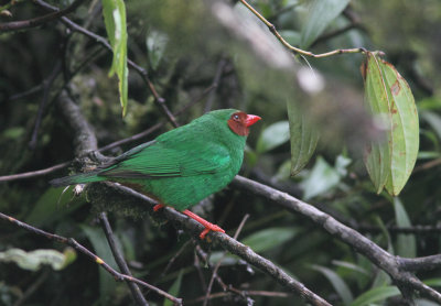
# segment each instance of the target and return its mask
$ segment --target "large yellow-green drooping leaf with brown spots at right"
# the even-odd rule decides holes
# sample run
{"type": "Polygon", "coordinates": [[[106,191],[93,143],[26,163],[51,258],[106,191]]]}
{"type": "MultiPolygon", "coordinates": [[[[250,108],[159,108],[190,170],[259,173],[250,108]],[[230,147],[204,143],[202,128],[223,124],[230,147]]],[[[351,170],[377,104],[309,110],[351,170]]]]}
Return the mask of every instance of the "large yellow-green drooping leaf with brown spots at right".
{"type": "Polygon", "coordinates": [[[395,67],[367,53],[362,66],[365,102],[385,129],[385,140],[373,141],[365,164],[376,192],[397,196],[408,181],[419,146],[418,112],[407,81],[395,67]]]}

